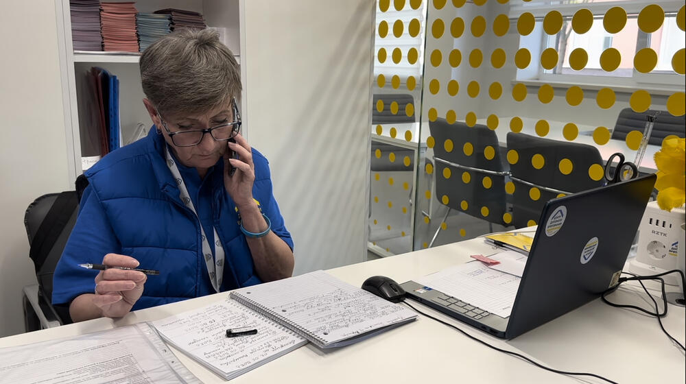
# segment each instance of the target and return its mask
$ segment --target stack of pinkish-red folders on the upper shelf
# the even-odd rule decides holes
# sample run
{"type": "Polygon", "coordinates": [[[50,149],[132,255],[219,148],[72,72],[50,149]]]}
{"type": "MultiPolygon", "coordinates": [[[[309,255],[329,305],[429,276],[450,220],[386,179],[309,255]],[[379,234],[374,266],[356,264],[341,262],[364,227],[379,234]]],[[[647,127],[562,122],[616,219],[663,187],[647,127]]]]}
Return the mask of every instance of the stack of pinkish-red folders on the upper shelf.
{"type": "Polygon", "coordinates": [[[104,51],[138,52],[134,3],[101,3],[100,20],[104,51]]]}

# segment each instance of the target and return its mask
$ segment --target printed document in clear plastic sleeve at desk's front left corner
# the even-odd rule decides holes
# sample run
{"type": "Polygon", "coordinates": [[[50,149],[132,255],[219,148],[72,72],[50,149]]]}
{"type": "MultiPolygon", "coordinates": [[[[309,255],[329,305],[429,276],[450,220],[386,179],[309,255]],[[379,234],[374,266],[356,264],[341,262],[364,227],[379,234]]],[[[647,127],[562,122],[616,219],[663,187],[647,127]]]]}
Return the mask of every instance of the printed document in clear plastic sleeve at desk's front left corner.
{"type": "Polygon", "coordinates": [[[145,323],[0,348],[3,384],[200,383],[145,323]],[[158,344],[155,344],[158,343],[158,344]],[[166,355],[165,355],[166,354],[166,355]],[[173,356],[173,354],[171,354],[173,356]],[[180,365],[182,370],[173,368],[180,365]]]}

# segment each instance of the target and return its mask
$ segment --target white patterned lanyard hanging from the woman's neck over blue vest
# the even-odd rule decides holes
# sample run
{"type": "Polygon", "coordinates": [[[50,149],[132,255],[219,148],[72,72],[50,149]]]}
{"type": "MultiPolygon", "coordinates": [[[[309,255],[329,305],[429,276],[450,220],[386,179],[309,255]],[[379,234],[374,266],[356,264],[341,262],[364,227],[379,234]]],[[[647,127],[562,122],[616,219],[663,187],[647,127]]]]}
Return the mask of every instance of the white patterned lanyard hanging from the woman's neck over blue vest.
{"type": "MultiPolygon", "coordinates": [[[[174,180],[176,180],[176,184],[178,184],[181,201],[191,211],[193,211],[193,213],[196,214],[196,217],[198,217],[198,212],[196,212],[196,208],[193,206],[193,202],[191,201],[191,196],[188,194],[186,183],[183,182],[181,173],[178,171],[178,167],[176,167],[176,162],[173,158],[171,158],[171,154],[169,154],[169,149],[166,145],[165,156],[167,156],[167,167],[169,167],[171,174],[174,176],[174,180]]],[[[219,235],[217,235],[217,228],[213,228],[215,235],[215,258],[213,260],[212,248],[210,248],[210,244],[205,236],[205,231],[202,229],[200,217],[198,217],[198,224],[200,224],[200,234],[202,235],[202,254],[205,259],[205,264],[207,265],[207,273],[210,276],[210,281],[212,282],[212,286],[214,287],[215,291],[219,292],[219,289],[222,286],[222,280],[224,279],[224,248],[222,248],[222,241],[220,241],[219,235]]]]}

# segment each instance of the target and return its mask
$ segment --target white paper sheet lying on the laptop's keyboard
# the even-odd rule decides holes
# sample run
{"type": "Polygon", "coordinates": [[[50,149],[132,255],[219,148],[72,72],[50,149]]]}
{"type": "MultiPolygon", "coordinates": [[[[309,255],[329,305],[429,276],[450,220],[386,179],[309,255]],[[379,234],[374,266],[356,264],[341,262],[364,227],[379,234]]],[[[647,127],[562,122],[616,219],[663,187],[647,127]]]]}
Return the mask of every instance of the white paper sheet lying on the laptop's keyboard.
{"type": "MultiPolygon", "coordinates": [[[[489,256],[494,258],[494,256],[489,256]]],[[[471,261],[413,279],[484,311],[510,316],[521,278],[496,271],[481,261],[471,261]]]]}

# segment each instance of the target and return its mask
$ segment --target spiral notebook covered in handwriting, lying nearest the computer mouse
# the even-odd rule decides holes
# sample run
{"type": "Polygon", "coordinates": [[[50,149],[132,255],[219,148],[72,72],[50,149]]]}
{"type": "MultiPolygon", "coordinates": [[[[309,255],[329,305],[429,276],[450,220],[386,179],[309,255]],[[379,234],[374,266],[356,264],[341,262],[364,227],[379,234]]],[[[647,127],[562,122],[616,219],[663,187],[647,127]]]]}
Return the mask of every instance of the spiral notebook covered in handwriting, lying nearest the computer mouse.
{"type": "Polygon", "coordinates": [[[324,271],[237,289],[230,297],[319,348],[353,344],[417,317],[324,271]]]}

